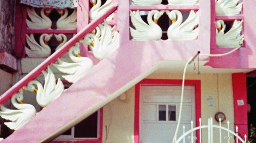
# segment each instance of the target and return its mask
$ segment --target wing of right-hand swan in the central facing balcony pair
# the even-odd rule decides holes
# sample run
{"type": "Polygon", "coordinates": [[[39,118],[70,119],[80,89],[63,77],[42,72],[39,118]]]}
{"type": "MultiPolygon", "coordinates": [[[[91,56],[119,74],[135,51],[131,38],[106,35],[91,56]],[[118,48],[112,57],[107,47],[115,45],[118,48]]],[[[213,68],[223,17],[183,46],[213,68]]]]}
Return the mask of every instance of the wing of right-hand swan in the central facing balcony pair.
{"type": "Polygon", "coordinates": [[[181,31],[192,31],[195,28],[195,26],[198,25],[198,22],[196,20],[196,18],[198,17],[198,12],[195,14],[194,10],[190,11],[188,18],[179,26],[181,31]]]}

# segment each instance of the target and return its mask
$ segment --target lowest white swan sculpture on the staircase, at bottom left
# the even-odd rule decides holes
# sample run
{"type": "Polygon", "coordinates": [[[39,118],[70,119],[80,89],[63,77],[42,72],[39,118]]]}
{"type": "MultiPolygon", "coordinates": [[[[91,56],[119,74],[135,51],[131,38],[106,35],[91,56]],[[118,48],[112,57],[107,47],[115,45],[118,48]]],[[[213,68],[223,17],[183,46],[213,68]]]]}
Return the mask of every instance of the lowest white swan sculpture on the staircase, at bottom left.
{"type": "Polygon", "coordinates": [[[22,90],[12,96],[11,103],[18,110],[8,109],[5,106],[0,105],[0,116],[11,121],[4,123],[8,128],[18,130],[37,113],[37,110],[33,105],[23,103],[22,90]]]}

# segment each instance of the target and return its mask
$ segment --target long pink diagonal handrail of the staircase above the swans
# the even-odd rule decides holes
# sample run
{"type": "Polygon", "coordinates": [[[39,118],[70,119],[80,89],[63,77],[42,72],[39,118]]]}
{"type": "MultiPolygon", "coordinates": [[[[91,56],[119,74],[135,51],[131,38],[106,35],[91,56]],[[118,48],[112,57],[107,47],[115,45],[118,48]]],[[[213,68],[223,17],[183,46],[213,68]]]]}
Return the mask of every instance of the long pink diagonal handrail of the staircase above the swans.
{"type": "Polygon", "coordinates": [[[55,51],[47,59],[45,59],[41,64],[39,64],[34,70],[27,74],[24,78],[19,80],[15,85],[13,85],[9,90],[7,90],[3,95],[0,96],[0,104],[4,104],[9,100],[14,93],[17,93],[18,90],[26,86],[29,81],[36,78],[42,73],[42,70],[47,69],[47,66],[54,63],[58,58],[63,56],[73,45],[76,44],[79,40],[83,39],[85,35],[94,30],[100,23],[103,22],[110,14],[117,10],[118,5],[114,4],[112,8],[107,10],[101,17],[91,21],[85,28],[78,32],[73,38],[71,38],[67,43],[65,43],[59,50],[55,51]]]}

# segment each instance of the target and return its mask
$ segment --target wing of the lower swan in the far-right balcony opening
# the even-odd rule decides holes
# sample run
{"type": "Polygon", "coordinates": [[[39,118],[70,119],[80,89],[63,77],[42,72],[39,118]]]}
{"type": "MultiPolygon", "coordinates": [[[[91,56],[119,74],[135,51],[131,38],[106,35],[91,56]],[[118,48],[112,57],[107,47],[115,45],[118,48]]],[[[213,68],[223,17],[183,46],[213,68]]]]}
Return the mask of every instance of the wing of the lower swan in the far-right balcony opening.
{"type": "Polygon", "coordinates": [[[241,20],[240,23],[238,23],[238,20],[235,20],[232,25],[232,28],[230,28],[230,30],[227,31],[227,33],[225,33],[226,39],[232,40],[237,38],[237,36],[241,33],[242,25],[243,25],[243,20],[241,20]]]}

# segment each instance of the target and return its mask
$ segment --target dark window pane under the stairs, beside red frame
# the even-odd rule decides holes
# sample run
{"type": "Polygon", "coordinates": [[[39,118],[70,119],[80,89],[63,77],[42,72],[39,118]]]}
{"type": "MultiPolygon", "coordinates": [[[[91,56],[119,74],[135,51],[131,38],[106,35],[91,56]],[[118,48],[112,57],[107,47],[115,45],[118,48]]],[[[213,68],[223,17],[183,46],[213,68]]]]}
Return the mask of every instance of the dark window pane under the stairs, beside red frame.
{"type": "Polygon", "coordinates": [[[75,126],[75,138],[97,138],[98,112],[93,113],[75,126]]]}

